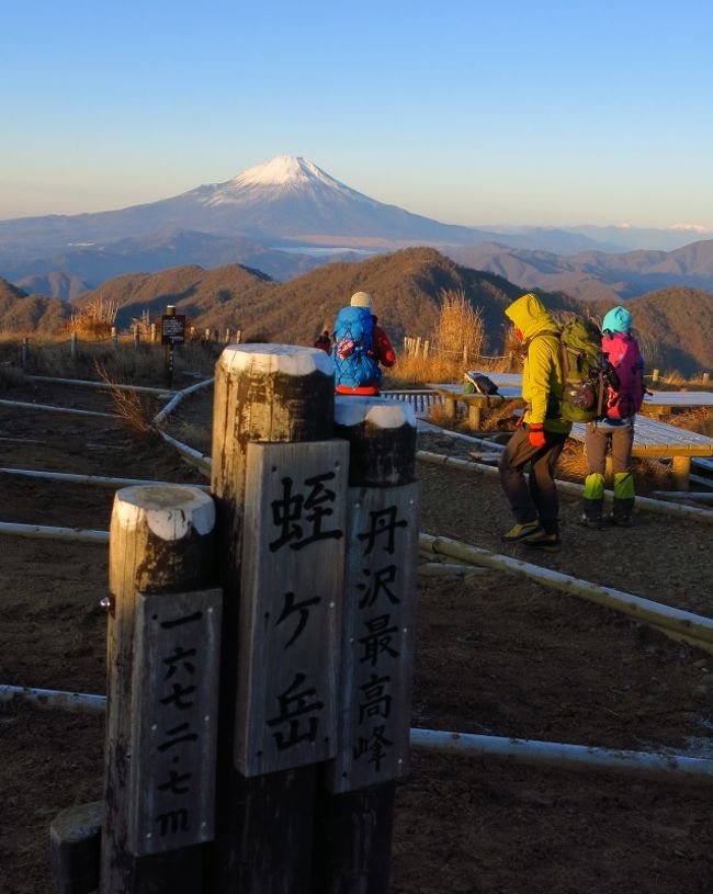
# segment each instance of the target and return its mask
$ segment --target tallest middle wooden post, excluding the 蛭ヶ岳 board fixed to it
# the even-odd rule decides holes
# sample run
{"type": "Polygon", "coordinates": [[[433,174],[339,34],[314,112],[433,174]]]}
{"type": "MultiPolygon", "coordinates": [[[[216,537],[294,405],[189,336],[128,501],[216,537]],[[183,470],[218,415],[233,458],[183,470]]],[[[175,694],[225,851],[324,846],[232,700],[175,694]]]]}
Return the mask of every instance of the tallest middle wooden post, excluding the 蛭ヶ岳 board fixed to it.
{"type": "MultiPolygon", "coordinates": [[[[233,344],[216,363],[212,491],[225,603],[216,837],[206,863],[211,894],[312,894],[315,767],[250,778],[236,769],[237,644],[249,446],[332,438],[333,401],[333,367],[318,349],[233,344]]],[[[294,505],[283,509],[288,521],[294,505]]]]}

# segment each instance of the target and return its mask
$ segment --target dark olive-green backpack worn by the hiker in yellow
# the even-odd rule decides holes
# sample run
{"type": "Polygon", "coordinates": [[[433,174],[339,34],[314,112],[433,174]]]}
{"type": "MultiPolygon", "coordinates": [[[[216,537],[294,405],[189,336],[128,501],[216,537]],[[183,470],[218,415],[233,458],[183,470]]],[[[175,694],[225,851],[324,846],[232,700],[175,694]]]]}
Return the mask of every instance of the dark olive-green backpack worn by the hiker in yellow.
{"type": "Polygon", "coordinates": [[[601,349],[602,335],[591,319],[573,316],[562,327],[559,353],[564,389],[559,412],[570,422],[591,422],[607,414],[616,375],[601,349]]]}

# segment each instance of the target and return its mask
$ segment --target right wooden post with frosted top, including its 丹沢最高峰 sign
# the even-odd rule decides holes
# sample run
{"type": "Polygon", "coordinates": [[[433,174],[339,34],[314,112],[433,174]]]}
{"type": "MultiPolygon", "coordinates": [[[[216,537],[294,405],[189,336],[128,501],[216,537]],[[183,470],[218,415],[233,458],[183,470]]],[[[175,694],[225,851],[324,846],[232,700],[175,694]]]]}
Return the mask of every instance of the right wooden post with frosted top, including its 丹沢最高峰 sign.
{"type": "Polygon", "coordinates": [[[341,714],[317,797],[314,892],[386,894],[395,780],[408,771],[416,417],[408,404],[338,397],[335,421],[350,445],[341,714]]]}

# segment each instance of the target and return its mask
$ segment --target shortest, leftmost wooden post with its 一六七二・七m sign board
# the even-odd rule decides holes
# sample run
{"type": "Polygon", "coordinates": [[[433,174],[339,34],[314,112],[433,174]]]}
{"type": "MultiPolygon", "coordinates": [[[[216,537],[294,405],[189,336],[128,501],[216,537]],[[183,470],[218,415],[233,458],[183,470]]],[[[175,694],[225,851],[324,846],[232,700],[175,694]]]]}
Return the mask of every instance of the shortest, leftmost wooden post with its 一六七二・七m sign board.
{"type": "Polygon", "coordinates": [[[101,894],[207,894],[222,593],[215,503],[188,485],[127,487],[110,530],[101,894]]]}

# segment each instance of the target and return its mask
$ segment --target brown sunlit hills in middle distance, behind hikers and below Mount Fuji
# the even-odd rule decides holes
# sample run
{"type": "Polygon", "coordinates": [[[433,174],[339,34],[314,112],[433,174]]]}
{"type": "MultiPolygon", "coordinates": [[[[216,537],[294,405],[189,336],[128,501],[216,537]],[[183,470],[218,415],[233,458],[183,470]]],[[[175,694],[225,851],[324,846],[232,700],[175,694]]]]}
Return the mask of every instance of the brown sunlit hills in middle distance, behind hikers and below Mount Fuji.
{"type": "MultiPolygon", "coordinates": [[[[174,304],[199,329],[240,329],[250,340],[312,344],[322,328],[331,329],[338,309],[360,290],[374,295],[380,322],[397,344],[405,335],[430,338],[443,291],[462,290],[482,313],[485,350],[494,354],[503,348],[505,307],[523,291],[496,274],[461,267],[434,249],[414,248],[359,263],[329,264],[284,283],[237,264],[134,274],[104,283],[101,291],[72,304],[82,306],[99,296],[116,302],[121,325],[140,317],[144,309],[158,315],[174,304]]],[[[612,306],[607,301],[578,302],[563,293],[540,294],[555,312],[601,318],[612,306]]],[[[670,288],[633,298],[627,307],[649,366],[684,375],[713,371],[713,294],[670,288]]]]}

